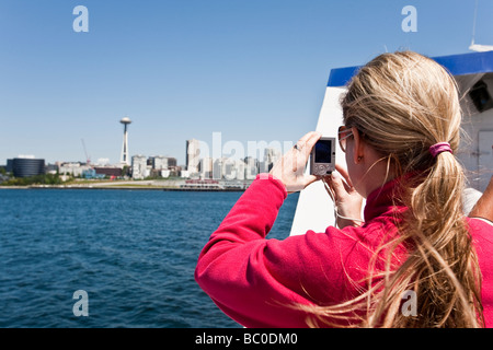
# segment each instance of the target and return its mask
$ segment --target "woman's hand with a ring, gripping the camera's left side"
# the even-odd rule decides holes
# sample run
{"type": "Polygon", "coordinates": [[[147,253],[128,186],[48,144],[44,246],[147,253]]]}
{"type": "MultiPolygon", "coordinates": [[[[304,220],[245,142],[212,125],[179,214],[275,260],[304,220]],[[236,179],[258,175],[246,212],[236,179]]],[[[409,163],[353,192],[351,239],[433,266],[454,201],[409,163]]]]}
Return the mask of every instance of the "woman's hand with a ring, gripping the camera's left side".
{"type": "Polygon", "coordinates": [[[313,145],[321,137],[320,132],[308,132],[271,170],[270,174],[286,186],[288,194],[299,191],[318,179],[314,175],[305,175],[305,166],[313,145]]]}

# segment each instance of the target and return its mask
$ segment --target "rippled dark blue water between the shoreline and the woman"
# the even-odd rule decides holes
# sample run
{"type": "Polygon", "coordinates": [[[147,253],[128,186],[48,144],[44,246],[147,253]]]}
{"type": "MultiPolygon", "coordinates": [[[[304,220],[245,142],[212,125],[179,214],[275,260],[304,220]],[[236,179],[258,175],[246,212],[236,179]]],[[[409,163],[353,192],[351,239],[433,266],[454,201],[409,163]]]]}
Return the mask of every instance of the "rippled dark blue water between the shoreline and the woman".
{"type": "MultiPolygon", "coordinates": [[[[0,327],[241,327],[194,280],[241,195],[0,189],[0,327]],[[77,290],[87,317],[73,315],[77,290]]],[[[297,200],[270,237],[289,234],[297,200]]]]}

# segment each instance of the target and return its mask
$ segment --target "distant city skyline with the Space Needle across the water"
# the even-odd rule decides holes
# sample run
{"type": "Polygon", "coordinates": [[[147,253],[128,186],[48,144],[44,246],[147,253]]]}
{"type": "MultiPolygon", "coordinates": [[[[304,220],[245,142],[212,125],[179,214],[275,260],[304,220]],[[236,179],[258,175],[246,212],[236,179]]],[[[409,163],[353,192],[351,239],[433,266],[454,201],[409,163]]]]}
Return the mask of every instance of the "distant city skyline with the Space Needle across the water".
{"type": "MultiPolygon", "coordinates": [[[[265,143],[261,143],[259,148],[259,144],[255,143],[254,152],[249,150],[244,153],[241,150],[241,144],[240,147],[236,144],[236,149],[230,148],[230,150],[234,150],[236,159],[225,156],[221,153],[214,152],[214,150],[213,154],[218,155],[218,158],[213,158],[209,153],[200,154],[199,141],[192,139],[186,141],[185,165],[177,165],[175,158],[162,155],[146,156],[137,154],[131,156],[131,162],[127,162],[128,154],[125,155],[125,151],[128,150],[127,125],[131,121],[128,117],[125,117],[122,121],[125,124],[124,143],[122,159],[118,164],[101,166],[91,163],[89,156],[87,156],[85,163],[57,162],[56,164],[45,164],[44,159],[36,159],[34,155],[20,155],[7,160],[7,165],[3,171],[13,173],[14,177],[30,177],[43,174],[59,175],[62,182],[72,177],[85,179],[115,179],[122,177],[158,179],[181,177],[183,179],[192,178],[200,180],[253,180],[257,174],[270,172],[272,166],[282,156],[279,149],[272,148],[265,143]],[[245,154],[248,155],[244,156],[245,154]],[[260,156],[256,158],[257,155],[260,156]]],[[[218,136],[216,135],[216,137],[218,136]]],[[[221,145],[220,142],[219,145],[221,145]]],[[[203,183],[196,184],[203,185],[203,183]]],[[[211,183],[207,184],[210,185],[211,183]]],[[[219,183],[216,182],[215,184],[219,183]]]]}

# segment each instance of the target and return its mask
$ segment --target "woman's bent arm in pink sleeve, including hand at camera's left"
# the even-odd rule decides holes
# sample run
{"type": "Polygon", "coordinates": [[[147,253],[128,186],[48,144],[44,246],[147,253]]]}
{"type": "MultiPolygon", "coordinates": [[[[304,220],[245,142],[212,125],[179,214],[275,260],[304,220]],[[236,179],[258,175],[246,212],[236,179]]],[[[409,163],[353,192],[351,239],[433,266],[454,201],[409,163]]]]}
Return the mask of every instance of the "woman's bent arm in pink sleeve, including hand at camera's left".
{"type": "MultiPolygon", "coordinates": [[[[310,132],[241,196],[203,248],[195,280],[231,318],[246,327],[302,327],[306,314],[293,304],[309,303],[301,283],[311,264],[320,266],[310,235],[265,240],[288,192],[316,180],[303,168],[320,135],[310,132]],[[301,283],[301,284],[300,284],[301,283]]],[[[320,244],[314,244],[320,246],[320,244]]],[[[318,276],[324,276],[320,271],[318,276]]],[[[306,288],[306,285],[305,285],[306,288]]]]}

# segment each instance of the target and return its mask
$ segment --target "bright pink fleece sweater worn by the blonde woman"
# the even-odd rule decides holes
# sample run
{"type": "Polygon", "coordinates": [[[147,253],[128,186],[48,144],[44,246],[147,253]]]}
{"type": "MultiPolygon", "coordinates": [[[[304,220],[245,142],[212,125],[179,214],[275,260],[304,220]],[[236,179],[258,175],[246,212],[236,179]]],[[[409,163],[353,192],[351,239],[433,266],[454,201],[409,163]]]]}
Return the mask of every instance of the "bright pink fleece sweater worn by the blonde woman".
{"type": "MultiPolygon", "coordinates": [[[[205,245],[195,279],[245,327],[307,327],[307,314],[288,306],[337,304],[358,295],[355,282],[366,277],[382,238],[397,232],[392,213],[405,209],[392,206],[393,188],[390,182],[367,198],[362,228],[329,226],[278,241],[265,236],[287,192],[279,180],[259,176],[205,245]]],[[[469,223],[483,277],[486,327],[493,327],[493,226],[477,219],[469,223]]],[[[405,256],[403,247],[395,253],[397,262],[405,256]]],[[[385,260],[385,252],[381,256],[385,260]]]]}

